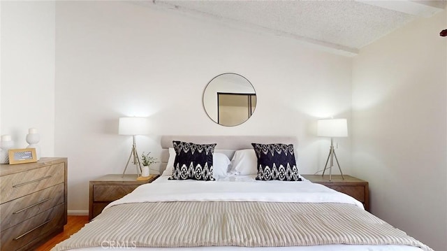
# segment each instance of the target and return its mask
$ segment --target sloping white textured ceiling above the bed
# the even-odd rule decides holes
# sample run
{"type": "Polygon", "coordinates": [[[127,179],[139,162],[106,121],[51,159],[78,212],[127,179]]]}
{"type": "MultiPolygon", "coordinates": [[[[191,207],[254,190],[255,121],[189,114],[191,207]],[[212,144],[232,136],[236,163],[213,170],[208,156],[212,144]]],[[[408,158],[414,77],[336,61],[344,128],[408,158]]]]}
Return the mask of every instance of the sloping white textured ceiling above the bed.
{"type": "Polygon", "coordinates": [[[363,46],[416,18],[430,17],[446,6],[446,0],[150,0],[147,3],[243,29],[287,36],[346,56],[357,55],[363,46]]]}

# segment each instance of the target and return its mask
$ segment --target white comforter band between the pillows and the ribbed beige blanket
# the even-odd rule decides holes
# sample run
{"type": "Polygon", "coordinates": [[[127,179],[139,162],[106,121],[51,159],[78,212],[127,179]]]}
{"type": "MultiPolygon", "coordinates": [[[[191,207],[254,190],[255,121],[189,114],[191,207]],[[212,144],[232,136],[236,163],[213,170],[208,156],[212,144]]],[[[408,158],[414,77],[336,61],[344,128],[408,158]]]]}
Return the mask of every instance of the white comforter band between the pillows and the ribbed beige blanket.
{"type": "Polygon", "coordinates": [[[240,179],[244,179],[244,182],[168,180],[168,176],[161,176],[156,182],[141,185],[131,194],[110,203],[106,208],[120,203],[154,201],[338,202],[363,208],[363,204],[351,196],[307,180],[258,181],[254,176],[233,178],[234,181],[240,179]]]}

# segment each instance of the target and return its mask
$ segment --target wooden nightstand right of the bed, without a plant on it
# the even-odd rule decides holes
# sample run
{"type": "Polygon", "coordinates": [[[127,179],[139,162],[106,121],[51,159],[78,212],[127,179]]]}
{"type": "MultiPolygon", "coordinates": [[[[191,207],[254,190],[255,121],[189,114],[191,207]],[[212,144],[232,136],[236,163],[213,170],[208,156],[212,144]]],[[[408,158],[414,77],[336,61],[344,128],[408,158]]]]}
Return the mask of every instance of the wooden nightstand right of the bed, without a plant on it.
{"type": "Polygon", "coordinates": [[[342,179],[342,175],[332,175],[330,181],[328,175],[324,175],[324,177],[321,175],[302,176],[314,183],[325,185],[338,192],[353,196],[355,199],[362,202],[363,206],[365,206],[365,210],[369,212],[369,189],[367,181],[354,178],[350,175],[343,175],[344,180],[342,179]]]}

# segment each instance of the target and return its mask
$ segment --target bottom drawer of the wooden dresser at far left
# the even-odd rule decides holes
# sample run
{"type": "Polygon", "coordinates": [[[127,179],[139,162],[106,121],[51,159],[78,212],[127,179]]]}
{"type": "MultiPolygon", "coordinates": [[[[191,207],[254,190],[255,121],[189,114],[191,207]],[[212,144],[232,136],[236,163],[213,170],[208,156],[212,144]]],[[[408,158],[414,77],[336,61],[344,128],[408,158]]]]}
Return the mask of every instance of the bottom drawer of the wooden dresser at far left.
{"type": "Polygon", "coordinates": [[[64,226],[64,204],[31,217],[17,224],[17,227],[1,231],[1,251],[19,250],[58,226],[64,226]]]}

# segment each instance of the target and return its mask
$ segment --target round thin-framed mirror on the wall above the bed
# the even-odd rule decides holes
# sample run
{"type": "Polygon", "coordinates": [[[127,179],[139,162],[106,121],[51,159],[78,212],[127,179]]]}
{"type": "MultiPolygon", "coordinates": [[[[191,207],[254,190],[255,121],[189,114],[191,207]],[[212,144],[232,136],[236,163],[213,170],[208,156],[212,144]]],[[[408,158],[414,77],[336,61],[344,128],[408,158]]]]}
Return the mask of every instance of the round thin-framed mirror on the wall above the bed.
{"type": "Polygon", "coordinates": [[[214,77],[203,92],[203,107],[217,124],[233,127],[247,121],[256,108],[253,85],[236,73],[214,77]]]}

